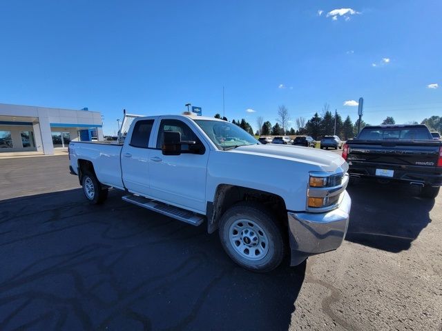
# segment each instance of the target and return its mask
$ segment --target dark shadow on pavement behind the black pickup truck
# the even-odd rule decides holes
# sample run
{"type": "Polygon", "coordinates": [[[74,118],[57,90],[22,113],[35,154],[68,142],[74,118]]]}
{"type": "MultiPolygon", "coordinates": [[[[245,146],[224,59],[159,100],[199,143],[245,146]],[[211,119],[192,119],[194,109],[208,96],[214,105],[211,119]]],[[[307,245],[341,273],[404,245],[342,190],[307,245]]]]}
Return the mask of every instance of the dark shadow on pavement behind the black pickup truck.
{"type": "Polygon", "coordinates": [[[348,241],[397,253],[409,249],[431,222],[434,199],[419,197],[419,189],[410,185],[361,179],[348,192],[352,197],[348,241]]]}

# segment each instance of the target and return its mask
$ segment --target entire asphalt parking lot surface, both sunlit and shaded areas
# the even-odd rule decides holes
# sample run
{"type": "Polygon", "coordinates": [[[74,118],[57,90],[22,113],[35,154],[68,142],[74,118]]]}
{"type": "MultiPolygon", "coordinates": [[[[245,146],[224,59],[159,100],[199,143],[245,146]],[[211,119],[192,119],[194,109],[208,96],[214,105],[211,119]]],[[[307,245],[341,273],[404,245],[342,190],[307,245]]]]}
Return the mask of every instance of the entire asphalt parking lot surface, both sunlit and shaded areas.
{"type": "Polygon", "coordinates": [[[68,158],[0,159],[0,330],[442,330],[442,194],[349,188],[334,252],[269,274],[206,234],[89,205],[68,158]]]}

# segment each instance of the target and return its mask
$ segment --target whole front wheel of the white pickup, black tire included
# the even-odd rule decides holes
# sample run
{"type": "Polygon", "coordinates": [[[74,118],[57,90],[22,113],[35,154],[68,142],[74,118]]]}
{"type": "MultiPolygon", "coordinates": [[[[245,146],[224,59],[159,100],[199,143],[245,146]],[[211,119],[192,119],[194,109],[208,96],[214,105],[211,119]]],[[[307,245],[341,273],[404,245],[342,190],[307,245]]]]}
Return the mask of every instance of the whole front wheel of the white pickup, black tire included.
{"type": "Polygon", "coordinates": [[[220,219],[220,241],[227,255],[242,268],[254,272],[269,272],[280,265],[285,252],[282,233],[278,220],[258,203],[237,203],[220,219]],[[241,223],[243,226],[240,226],[241,223]],[[235,235],[238,235],[236,241],[235,235]],[[255,237],[258,238],[256,241],[255,237]],[[244,250],[240,252],[242,248],[244,250]],[[265,252],[261,253],[261,250],[265,252]],[[258,251],[262,257],[259,257],[258,251]]]}

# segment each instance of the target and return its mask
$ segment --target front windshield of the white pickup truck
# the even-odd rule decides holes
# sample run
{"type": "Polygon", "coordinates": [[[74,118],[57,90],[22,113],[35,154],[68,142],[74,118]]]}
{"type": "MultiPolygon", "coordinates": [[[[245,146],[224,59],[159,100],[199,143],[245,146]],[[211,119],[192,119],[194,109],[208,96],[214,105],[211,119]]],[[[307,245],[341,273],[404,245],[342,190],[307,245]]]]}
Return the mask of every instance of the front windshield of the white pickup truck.
{"type": "Polygon", "coordinates": [[[210,121],[195,119],[195,123],[209,136],[216,147],[220,150],[245,145],[260,144],[248,132],[227,121],[210,121]]]}

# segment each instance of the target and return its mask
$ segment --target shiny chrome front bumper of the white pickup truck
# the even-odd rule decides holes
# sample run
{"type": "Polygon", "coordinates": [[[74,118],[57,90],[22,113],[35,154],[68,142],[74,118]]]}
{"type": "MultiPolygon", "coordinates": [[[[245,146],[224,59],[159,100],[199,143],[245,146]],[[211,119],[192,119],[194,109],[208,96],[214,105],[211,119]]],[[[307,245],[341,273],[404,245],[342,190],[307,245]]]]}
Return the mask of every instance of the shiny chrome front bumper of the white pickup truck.
{"type": "Polygon", "coordinates": [[[336,250],[347,233],[352,199],[347,191],[335,210],[316,214],[313,212],[288,212],[291,265],[302,263],[307,257],[336,250]]]}

